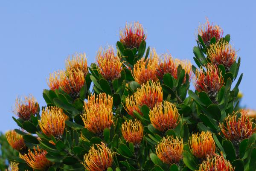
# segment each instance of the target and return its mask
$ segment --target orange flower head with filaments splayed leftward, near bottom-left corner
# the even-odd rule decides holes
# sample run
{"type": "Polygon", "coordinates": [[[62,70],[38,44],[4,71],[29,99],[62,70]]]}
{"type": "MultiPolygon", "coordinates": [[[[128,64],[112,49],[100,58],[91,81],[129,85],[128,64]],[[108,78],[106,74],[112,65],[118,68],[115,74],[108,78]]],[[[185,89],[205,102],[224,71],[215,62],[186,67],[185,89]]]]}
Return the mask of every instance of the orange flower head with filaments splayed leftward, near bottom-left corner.
{"type": "Polygon", "coordinates": [[[37,145],[37,148],[34,146],[34,151],[29,149],[28,154],[20,155],[20,158],[33,169],[44,171],[52,165],[52,162],[46,158],[46,154],[47,151],[40,149],[37,145]]]}

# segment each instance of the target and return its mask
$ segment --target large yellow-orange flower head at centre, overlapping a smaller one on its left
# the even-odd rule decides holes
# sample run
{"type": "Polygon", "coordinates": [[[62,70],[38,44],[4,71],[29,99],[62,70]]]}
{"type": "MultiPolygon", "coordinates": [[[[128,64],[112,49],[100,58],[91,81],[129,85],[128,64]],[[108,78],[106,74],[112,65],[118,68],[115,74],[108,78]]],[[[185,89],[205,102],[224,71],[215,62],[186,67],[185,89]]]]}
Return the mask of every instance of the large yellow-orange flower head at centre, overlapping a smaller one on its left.
{"type": "Polygon", "coordinates": [[[137,104],[143,106],[144,104],[153,109],[157,103],[163,101],[163,90],[159,82],[143,84],[135,93],[137,104]]]}

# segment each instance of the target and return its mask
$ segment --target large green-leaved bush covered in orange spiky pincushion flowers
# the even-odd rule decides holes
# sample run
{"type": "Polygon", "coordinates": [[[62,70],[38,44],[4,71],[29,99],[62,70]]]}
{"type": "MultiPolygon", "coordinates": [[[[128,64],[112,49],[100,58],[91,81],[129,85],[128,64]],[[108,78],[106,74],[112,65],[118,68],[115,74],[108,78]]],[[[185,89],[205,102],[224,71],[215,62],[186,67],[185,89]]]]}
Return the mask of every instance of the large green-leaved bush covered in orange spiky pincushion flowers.
{"type": "Polygon", "coordinates": [[[128,23],[116,50],[99,49],[90,67],[85,54],[68,58],[47,79],[41,114],[33,96],[17,98],[9,171],[256,171],[255,120],[239,108],[230,35],[199,26],[198,67],[158,55],[146,38],[128,23]]]}

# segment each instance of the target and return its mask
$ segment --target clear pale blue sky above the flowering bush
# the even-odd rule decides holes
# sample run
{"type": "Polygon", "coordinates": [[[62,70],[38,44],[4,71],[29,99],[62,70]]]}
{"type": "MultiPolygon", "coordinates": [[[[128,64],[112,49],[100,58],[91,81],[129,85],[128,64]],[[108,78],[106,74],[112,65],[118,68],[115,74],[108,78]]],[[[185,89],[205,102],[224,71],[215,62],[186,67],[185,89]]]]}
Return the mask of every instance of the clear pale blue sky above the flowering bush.
{"type": "Polygon", "coordinates": [[[0,131],[17,128],[12,106],[18,95],[31,93],[45,105],[42,92],[50,72],[64,69],[75,52],[94,62],[99,47],[115,45],[119,29],[134,20],[143,24],[147,45],[157,53],[169,51],[192,62],[199,23],[208,17],[221,26],[241,56],[242,104],[256,109],[255,1],[92,1],[0,1],[0,131]]]}

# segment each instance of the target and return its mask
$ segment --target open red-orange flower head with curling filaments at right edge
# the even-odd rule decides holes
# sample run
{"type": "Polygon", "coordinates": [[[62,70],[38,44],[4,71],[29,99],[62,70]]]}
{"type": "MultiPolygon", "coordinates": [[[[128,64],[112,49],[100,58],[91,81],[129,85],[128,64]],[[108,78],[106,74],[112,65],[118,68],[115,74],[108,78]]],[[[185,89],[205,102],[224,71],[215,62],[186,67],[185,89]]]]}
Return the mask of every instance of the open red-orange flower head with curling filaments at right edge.
{"type": "Polygon", "coordinates": [[[249,138],[256,132],[253,128],[253,122],[249,118],[245,110],[233,113],[227,116],[222,124],[220,124],[221,132],[232,142],[241,142],[243,139],[249,138]]]}

